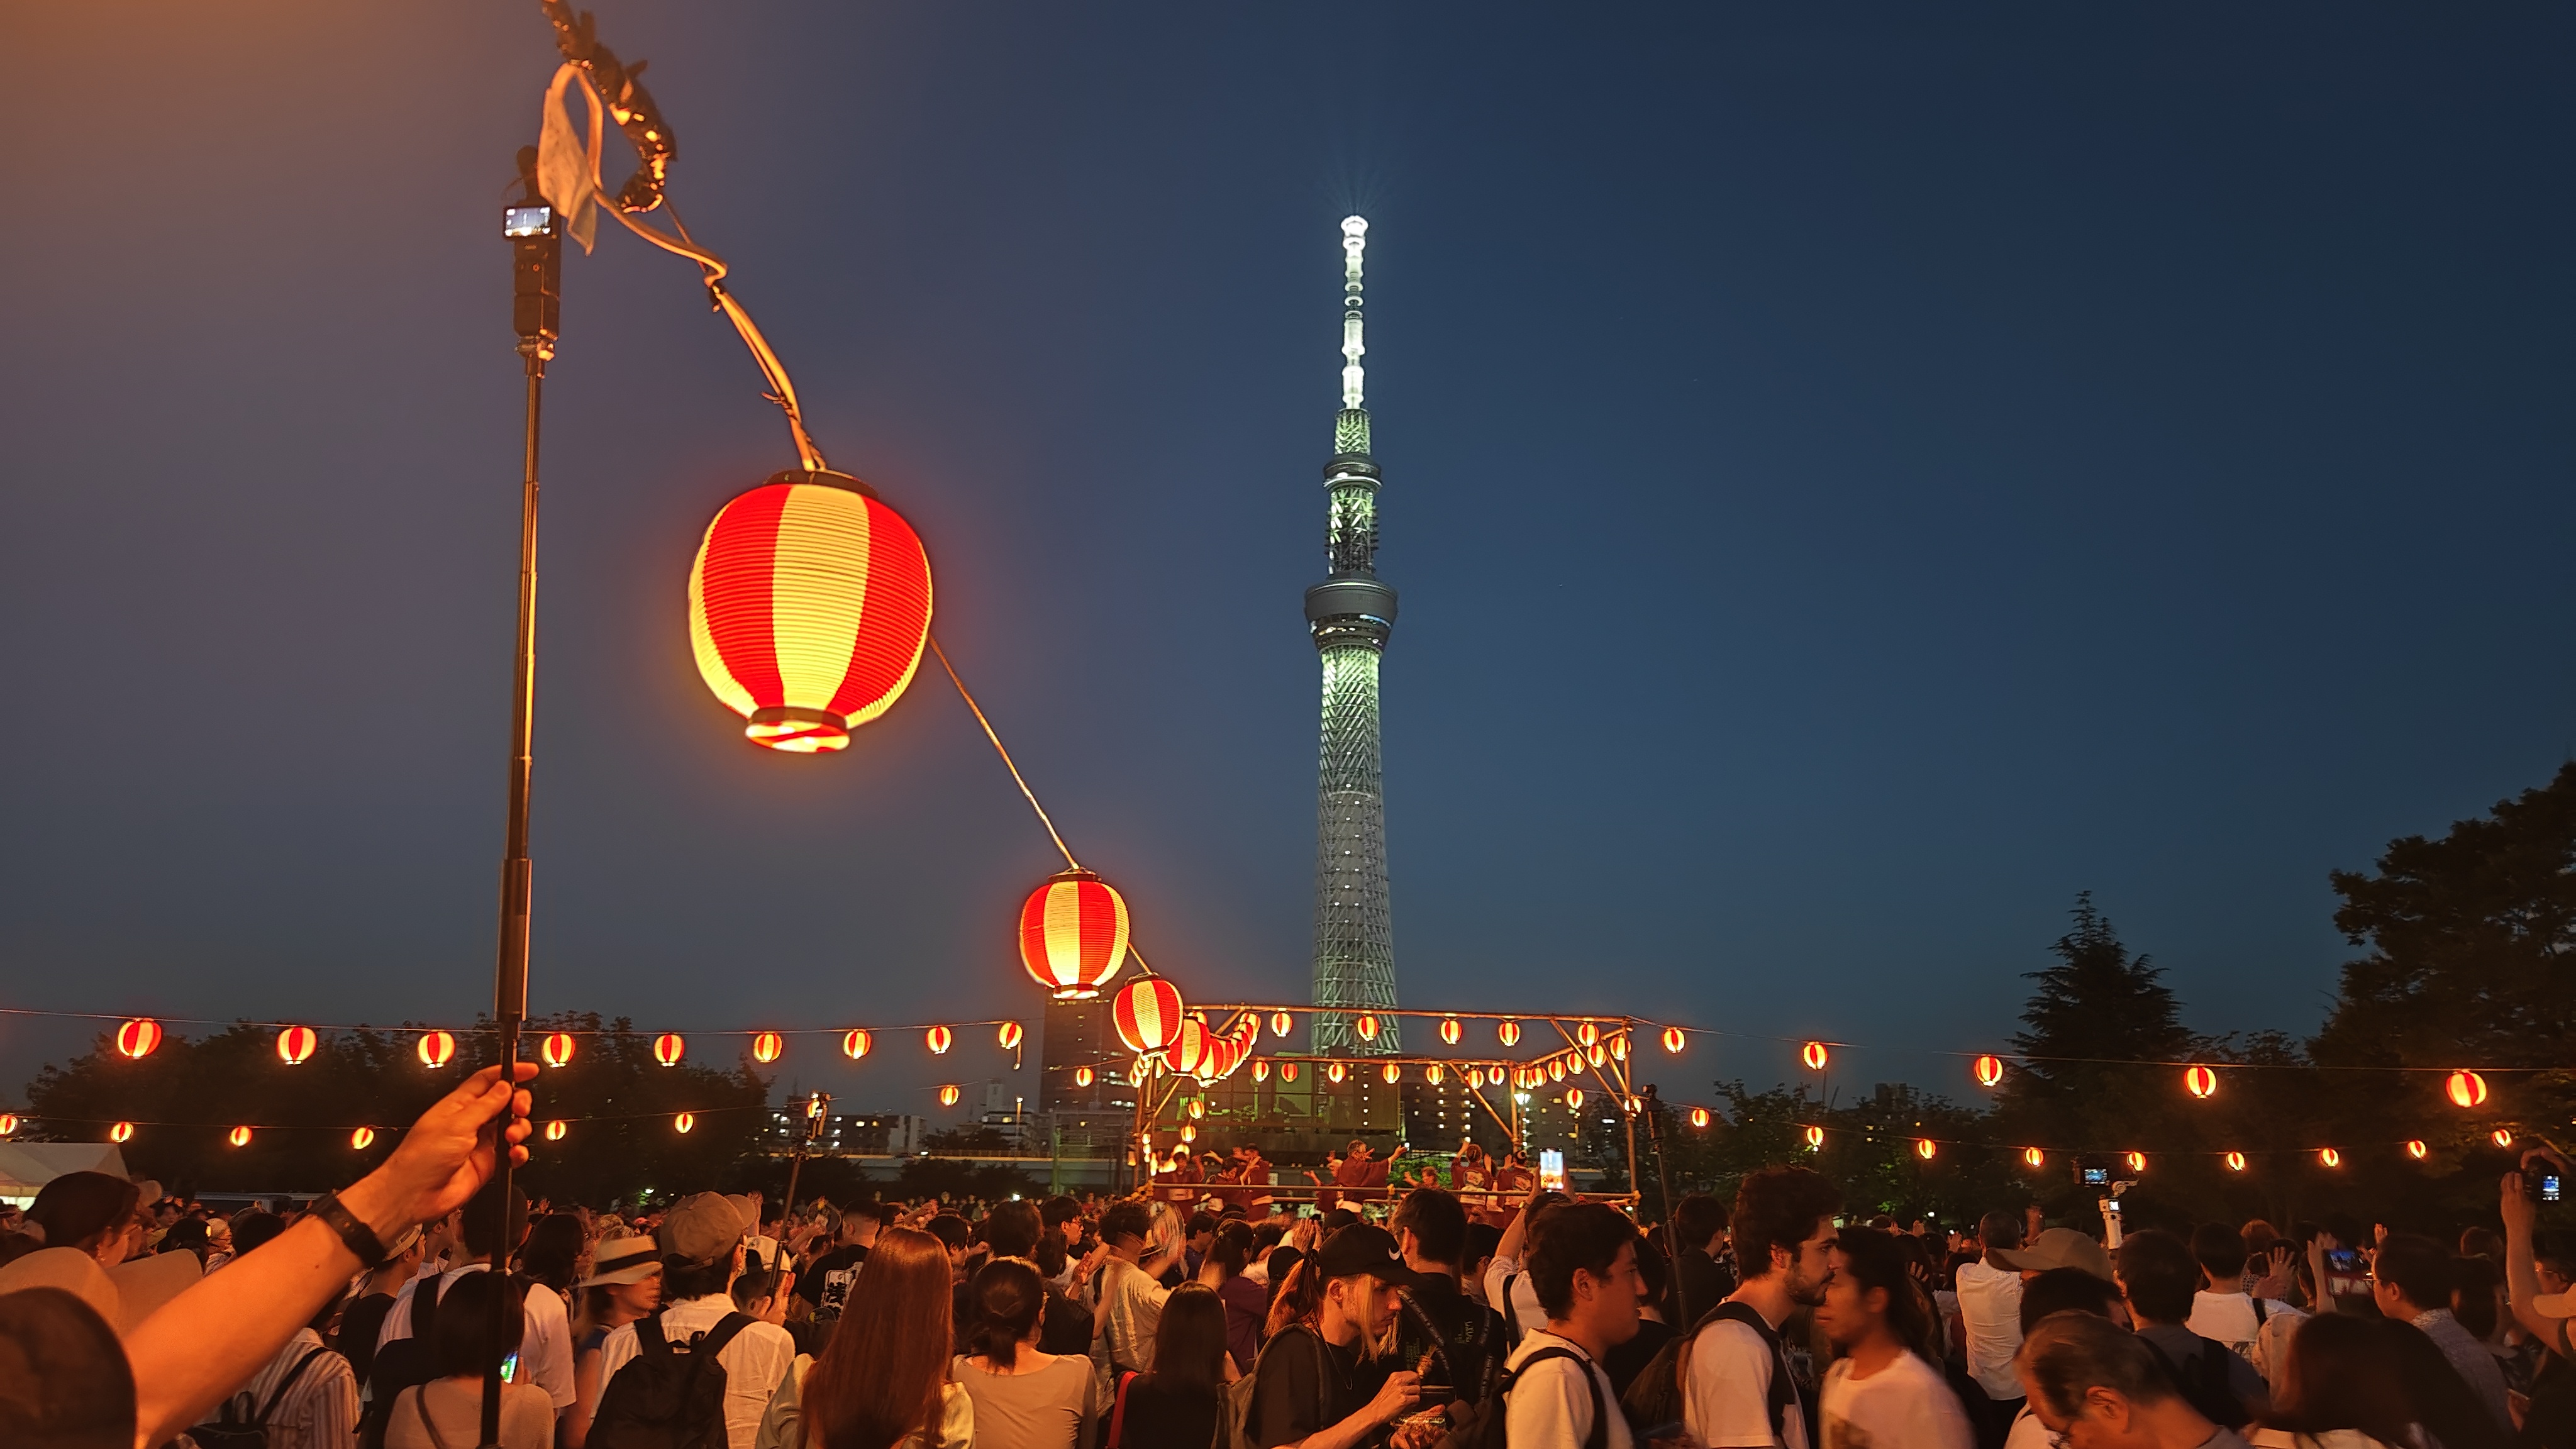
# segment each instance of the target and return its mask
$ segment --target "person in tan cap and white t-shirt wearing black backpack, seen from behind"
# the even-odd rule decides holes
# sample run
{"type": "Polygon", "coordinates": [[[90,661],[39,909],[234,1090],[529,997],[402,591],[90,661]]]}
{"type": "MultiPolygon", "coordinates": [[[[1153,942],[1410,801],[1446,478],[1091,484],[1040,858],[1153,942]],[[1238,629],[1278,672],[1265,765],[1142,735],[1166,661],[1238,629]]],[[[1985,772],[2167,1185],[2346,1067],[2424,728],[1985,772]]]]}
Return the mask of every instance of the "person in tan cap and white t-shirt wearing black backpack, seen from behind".
{"type": "MultiPolygon", "coordinates": [[[[760,1415],[770,1408],[770,1395],[788,1377],[796,1361],[796,1338],[775,1323],[760,1323],[734,1312],[734,1276],[742,1274],[742,1243],[752,1235],[752,1222],[739,1201],[724,1194],[683,1196],[654,1240],[662,1248],[662,1305],[647,1320],[665,1343],[724,1336],[716,1343],[716,1361],[724,1364],[724,1439],[726,1449],[752,1449],[760,1439],[760,1415]],[[737,1323],[726,1323],[726,1318],[737,1323]],[[724,1328],[719,1328],[724,1325],[724,1328]]],[[[611,1238],[611,1243],[618,1243],[611,1238]]],[[[608,1243],[600,1245],[605,1258],[608,1243]]],[[[641,1323],[641,1320],[639,1320],[641,1323]]],[[[618,1377],[636,1354],[636,1323],[621,1323],[600,1341],[600,1385],[618,1377]]]]}

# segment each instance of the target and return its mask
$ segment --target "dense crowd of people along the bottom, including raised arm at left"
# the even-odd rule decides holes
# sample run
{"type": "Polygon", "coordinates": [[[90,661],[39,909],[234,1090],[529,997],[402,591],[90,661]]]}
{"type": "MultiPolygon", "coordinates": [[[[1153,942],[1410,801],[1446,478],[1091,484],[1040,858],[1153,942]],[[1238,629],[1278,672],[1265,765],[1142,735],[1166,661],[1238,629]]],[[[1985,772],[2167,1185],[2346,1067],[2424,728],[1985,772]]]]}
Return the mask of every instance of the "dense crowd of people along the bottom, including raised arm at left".
{"type": "Polygon", "coordinates": [[[464,1449],[500,1369],[502,1449],[2576,1446],[2576,1261],[2519,1176],[2455,1243],[1935,1235],[1801,1165],[1646,1225],[1425,1178],[613,1214],[500,1191],[515,1104],[482,1073],[283,1212],[57,1178],[0,1222],[0,1441],[464,1449]]]}

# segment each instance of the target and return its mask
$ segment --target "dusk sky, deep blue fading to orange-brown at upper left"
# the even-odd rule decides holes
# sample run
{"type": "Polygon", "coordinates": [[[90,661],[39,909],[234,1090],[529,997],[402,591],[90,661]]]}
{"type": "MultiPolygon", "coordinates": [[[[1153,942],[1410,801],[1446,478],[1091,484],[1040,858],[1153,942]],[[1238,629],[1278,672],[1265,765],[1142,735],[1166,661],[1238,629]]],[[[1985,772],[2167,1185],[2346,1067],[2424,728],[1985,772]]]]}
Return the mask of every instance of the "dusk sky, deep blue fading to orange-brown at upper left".
{"type": "MultiPolygon", "coordinates": [[[[1896,1047],[1999,1044],[2094,890],[2195,1026],[2306,1031],[2326,871],[2576,740],[2563,10],[598,10],[1200,995],[1306,990],[1347,211],[1406,1003],[1955,1088],[1896,1047]]],[[[551,62],[502,0],[0,13],[0,1003],[489,1000],[551,62]]],[[[564,291],[533,1003],[1033,1013],[1051,851],[945,681],[806,761],[696,678],[698,534],[793,459],[693,271],[603,227],[564,291]]]]}

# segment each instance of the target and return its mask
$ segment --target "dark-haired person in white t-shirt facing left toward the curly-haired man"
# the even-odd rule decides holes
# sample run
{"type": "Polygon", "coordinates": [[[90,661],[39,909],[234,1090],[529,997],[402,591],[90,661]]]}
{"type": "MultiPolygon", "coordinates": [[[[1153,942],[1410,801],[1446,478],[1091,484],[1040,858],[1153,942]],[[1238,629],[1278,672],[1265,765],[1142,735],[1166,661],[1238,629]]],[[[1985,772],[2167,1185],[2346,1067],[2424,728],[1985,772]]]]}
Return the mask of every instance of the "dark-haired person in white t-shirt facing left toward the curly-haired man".
{"type": "Polygon", "coordinates": [[[1911,1348],[1932,1328],[1932,1305],[1893,1238],[1837,1240],[1816,1328],[1842,1351],[1819,1395],[1824,1449],[1973,1449],[1976,1431],[1950,1382],[1911,1348]]]}

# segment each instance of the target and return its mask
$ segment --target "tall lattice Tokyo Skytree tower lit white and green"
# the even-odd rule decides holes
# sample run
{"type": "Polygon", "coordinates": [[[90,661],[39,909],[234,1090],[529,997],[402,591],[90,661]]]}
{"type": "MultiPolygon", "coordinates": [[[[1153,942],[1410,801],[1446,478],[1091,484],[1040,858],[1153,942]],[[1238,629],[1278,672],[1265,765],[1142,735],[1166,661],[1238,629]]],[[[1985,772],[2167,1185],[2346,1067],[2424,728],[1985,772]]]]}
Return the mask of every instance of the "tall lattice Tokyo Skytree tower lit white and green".
{"type": "Polygon", "coordinates": [[[1360,356],[1360,253],[1368,222],[1342,222],[1342,410],[1324,464],[1324,583],[1306,590],[1306,627],[1324,660],[1324,737],[1314,786],[1314,1049],[1396,1049],[1396,1018],[1363,1042],[1355,1011],[1396,1006],[1396,938],[1386,918],[1386,794],[1378,761],[1378,657],[1396,627],[1396,590],[1378,583],[1378,464],[1368,456],[1360,356]]]}

